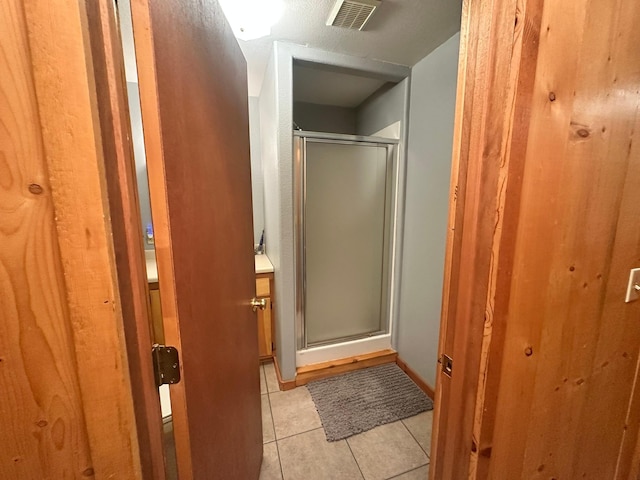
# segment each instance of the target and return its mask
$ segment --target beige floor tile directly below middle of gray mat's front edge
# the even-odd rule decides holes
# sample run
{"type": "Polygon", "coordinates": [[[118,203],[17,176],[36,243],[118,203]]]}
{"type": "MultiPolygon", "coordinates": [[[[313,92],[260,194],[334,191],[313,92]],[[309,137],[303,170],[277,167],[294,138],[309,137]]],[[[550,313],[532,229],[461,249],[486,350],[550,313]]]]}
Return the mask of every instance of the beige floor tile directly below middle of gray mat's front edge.
{"type": "Polygon", "coordinates": [[[429,462],[400,421],[355,435],[347,442],[366,480],[384,480],[429,462]]]}

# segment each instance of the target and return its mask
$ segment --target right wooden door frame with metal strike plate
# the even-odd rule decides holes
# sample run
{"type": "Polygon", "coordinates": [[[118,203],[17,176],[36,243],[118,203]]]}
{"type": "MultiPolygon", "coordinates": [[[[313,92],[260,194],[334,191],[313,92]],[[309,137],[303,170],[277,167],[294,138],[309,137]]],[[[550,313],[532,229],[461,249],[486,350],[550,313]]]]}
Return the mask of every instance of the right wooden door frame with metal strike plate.
{"type": "Polygon", "coordinates": [[[486,374],[489,365],[500,366],[502,354],[495,293],[513,250],[503,235],[514,227],[505,224],[507,184],[519,181],[518,166],[509,163],[510,140],[516,91],[528,80],[519,71],[522,8],[518,0],[462,6],[438,348],[439,359],[453,359],[453,374],[436,377],[431,479],[475,478],[491,452],[498,389],[491,380],[498,376],[486,374]]]}

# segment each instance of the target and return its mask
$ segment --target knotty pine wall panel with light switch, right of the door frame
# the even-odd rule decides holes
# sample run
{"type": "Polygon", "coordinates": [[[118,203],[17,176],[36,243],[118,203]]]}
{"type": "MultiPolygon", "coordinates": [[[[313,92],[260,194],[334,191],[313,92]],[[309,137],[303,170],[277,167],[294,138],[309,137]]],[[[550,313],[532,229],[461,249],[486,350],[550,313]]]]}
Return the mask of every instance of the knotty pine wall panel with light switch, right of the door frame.
{"type": "Polygon", "coordinates": [[[640,344],[637,305],[623,302],[640,208],[622,209],[638,185],[638,19],[625,2],[544,3],[536,88],[522,105],[496,478],[615,475],[640,344]]]}

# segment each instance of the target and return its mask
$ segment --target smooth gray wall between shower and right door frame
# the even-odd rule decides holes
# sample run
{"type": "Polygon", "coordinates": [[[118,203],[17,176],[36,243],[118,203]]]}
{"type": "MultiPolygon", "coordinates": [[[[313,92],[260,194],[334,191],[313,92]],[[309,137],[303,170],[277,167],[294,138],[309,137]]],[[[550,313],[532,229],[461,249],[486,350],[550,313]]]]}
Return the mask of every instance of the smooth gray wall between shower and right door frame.
{"type": "Polygon", "coordinates": [[[411,71],[397,349],[435,386],[460,34],[411,71]]]}

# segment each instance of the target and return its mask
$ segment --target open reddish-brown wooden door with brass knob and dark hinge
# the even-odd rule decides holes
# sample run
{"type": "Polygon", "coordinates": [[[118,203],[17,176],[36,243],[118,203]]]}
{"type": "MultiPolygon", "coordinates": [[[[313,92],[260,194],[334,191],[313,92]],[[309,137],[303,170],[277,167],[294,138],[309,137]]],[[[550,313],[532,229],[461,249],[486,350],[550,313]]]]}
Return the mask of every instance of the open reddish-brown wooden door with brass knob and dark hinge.
{"type": "Polygon", "coordinates": [[[131,3],[179,477],[258,478],[245,60],[216,1],[131,3]]]}

